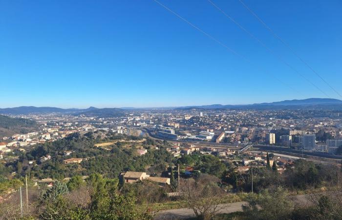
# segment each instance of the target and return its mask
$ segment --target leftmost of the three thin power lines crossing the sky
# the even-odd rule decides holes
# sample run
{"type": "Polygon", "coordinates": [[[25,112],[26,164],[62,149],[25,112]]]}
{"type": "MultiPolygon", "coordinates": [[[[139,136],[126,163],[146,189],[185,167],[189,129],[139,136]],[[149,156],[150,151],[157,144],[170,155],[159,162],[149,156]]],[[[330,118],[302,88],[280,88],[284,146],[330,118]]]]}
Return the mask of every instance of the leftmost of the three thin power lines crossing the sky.
{"type": "MultiPolygon", "coordinates": [[[[189,22],[188,20],[186,20],[185,18],[183,18],[182,16],[178,15],[177,13],[175,13],[174,11],[172,11],[170,8],[168,8],[167,6],[165,6],[164,4],[160,3],[158,0],[154,0],[156,3],[158,3],[160,6],[162,6],[163,8],[165,8],[166,10],[168,10],[169,12],[171,12],[173,15],[175,15],[176,17],[178,17],[179,19],[181,19],[182,21],[188,23],[190,26],[192,26],[193,28],[195,28],[196,30],[198,30],[199,32],[201,32],[202,34],[206,35],[208,38],[212,39],[214,42],[216,42],[217,44],[220,44],[221,46],[225,47],[226,49],[228,49],[229,51],[231,51],[232,53],[234,53],[236,56],[241,57],[242,59],[244,59],[245,61],[247,61],[248,63],[252,64],[253,63],[247,59],[246,57],[244,57],[243,55],[237,53],[235,50],[231,49],[229,46],[227,46],[226,44],[220,42],[219,40],[217,40],[216,38],[214,38],[212,35],[208,34],[207,32],[205,32],[204,30],[200,29],[199,27],[197,27],[196,25],[194,25],[192,22],[189,22]]],[[[287,85],[286,83],[282,82],[281,80],[279,80],[277,77],[275,77],[274,75],[268,73],[267,71],[265,71],[268,75],[271,75],[273,78],[275,78],[278,82],[280,82],[281,84],[285,85],[286,87],[294,90],[295,92],[301,94],[299,91],[297,91],[296,89],[292,88],[291,86],[287,85]]],[[[305,97],[303,94],[301,94],[303,97],[305,97]]]]}

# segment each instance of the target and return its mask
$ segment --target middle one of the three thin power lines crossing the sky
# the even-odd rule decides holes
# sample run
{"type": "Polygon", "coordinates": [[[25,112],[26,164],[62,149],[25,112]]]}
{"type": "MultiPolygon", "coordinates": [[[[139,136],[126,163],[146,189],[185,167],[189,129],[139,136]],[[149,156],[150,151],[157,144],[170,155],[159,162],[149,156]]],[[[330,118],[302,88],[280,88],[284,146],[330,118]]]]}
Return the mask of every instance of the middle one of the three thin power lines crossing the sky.
{"type": "MultiPolygon", "coordinates": [[[[225,13],[221,8],[219,8],[216,4],[214,4],[213,1],[208,0],[216,9],[218,9],[222,14],[224,14],[227,18],[229,18],[232,22],[234,22],[240,29],[242,29],[244,32],[246,32],[249,36],[254,38],[259,44],[261,44],[263,47],[265,47],[271,54],[276,56],[282,63],[284,63],[286,66],[290,67],[293,71],[295,71],[299,76],[301,76],[303,79],[305,79],[307,82],[309,82],[312,86],[320,90],[324,95],[329,97],[328,94],[326,94],[321,88],[319,88],[317,85],[312,83],[308,78],[303,76],[302,74],[299,73],[299,71],[291,66],[289,63],[287,63],[280,55],[276,54],[272,49],[270,49],[266,44],[264,44],[261,40],[259,40],[256,36],[254,36],[251,32],[249,32],[246,28],[244,28],[241,24],[235,21],[231,16],[229,16],[227,13],[225,13]]],[[[330,97],[329,97],[330,98],[330,97]]]]}

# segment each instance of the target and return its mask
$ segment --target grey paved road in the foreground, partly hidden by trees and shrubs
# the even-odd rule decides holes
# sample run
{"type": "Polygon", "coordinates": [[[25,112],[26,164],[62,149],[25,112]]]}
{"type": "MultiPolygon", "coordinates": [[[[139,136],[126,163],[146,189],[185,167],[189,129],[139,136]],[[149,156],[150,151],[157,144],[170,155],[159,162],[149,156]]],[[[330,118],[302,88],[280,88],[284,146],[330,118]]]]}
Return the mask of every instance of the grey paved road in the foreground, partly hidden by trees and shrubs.
{"type": "MultiPolygon", "coordinates": [[[[309,203],[306,195],[299,195],[293,198],[294,202],[298,205],[306,205],[309,203]]],[[[242,205],[246,204],[246,202],[233,202],[227,204],[221,204],[219,207],[222,209],[220,213],[233,213],[242,211],[242,205]]],[[[192,209],[181,208],[181,209],[170,209],[160,211],[155,220],[181,220],[181,219],[189,219],[195,217],[192,209]]]]}

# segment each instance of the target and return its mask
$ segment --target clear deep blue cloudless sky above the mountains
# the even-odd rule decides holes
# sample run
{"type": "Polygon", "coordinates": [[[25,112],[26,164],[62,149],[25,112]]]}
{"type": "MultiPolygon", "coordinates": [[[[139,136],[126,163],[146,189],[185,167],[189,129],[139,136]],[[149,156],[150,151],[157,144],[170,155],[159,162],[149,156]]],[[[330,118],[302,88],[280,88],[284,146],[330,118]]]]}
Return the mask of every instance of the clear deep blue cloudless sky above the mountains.
{"type": "MultiPolygon", "coordinates": [[[[0,108],[166,107],[327,97],[207,0],[160,2],[251,62],[153,0],[1,0],[0,108]]],[[[341,98],[238,0],[213,2],[329,97],[341,98]]],[[[342,1],[244,2],[342,93],[342,1]]]]}

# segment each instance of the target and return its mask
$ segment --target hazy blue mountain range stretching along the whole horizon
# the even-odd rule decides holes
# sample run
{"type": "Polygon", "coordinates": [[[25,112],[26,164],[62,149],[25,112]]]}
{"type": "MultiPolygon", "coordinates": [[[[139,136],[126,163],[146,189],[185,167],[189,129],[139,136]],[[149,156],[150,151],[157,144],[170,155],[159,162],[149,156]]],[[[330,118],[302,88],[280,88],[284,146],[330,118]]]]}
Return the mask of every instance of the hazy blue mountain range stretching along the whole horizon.
{"type": "MultiPolygon", "coordinates": [[[[61,109],[54,107],[33,107],[22,106],[16,108],[0,109],[0,114],[29,114],[29,113],[70,113],[73,115],[98,116],[98,117],[120,117],[125,115],[129,110],[137,110],[144,108],[103,108],[98,109],[89,107],[88,109],[61,109]]],[[[331,109],[342,110],[342,100],[329,98],[310,98],[310,99],[294,99],[271,103],[258,103],[250,105],[204,105],[204,106],[185,106],[170,108],[145,108],[145,109],[256,109],[256,110],[277,110],[277,109],[331,109]]]]}

